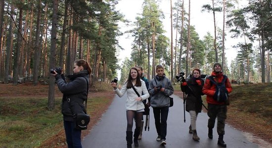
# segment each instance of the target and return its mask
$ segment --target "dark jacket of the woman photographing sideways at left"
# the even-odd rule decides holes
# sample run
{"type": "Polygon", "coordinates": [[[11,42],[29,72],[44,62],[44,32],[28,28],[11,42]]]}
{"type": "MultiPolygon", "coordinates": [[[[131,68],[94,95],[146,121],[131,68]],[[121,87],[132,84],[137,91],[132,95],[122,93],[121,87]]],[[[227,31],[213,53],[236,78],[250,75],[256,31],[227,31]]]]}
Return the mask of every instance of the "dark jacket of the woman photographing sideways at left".
{"type": "Polygon", "coordinates": [[[61,104],[63,118],[65,121],[74,121],[72,111],[74,114],[85,112],[84,101],[87,99],[89,74],[73,74],[68,75],[68,78],[70,78],[71,82],[66,83],[64,79],[56,77],[58,88],[63,93],[61,104]],[[68,98],[70,104],[67,101],[68,98]]]}

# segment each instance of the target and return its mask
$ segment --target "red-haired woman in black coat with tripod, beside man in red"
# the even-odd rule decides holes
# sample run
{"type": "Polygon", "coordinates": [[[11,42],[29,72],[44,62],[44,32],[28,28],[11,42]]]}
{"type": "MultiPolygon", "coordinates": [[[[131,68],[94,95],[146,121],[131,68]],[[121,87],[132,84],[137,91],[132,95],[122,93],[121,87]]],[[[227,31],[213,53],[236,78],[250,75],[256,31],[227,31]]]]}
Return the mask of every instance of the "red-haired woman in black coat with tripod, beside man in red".
{"type": "Polygon", "coordinates": [[[199,141],[200,138],[196,133],[196,118],[199,112],[202,110],[201,95],[204,81],[201,79],[200,70],[194,69],[192,76],[189,80],[181,79],[181,91],[184,92],[186,97],[186,111],[190,113],[191,124],[189,126],[189,133],[193,134],[193,140],[199,141]]]}

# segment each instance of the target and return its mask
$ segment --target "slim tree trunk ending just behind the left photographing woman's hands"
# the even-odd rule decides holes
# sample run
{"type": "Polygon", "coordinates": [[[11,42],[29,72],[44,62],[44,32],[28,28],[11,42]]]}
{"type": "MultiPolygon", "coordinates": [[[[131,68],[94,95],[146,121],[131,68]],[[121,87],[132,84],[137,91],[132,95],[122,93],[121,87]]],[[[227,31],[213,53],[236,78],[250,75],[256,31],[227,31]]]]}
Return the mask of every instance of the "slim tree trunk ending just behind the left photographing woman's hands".
{"type": "Polygon", "coordinates": [[[59,51],[59,66],[64,66],[64,50],[65,50],[65,36],[66,36],[66,29],[67,29],[67,20],[68,20],[68,9],[69,9],[69,2],[65,0],[65,11],[64,11],[64,19],[63,19],[63,26],[62,26],[62,34],[61,34],[61,44],[60,44],[60,51],[59,51]]]}

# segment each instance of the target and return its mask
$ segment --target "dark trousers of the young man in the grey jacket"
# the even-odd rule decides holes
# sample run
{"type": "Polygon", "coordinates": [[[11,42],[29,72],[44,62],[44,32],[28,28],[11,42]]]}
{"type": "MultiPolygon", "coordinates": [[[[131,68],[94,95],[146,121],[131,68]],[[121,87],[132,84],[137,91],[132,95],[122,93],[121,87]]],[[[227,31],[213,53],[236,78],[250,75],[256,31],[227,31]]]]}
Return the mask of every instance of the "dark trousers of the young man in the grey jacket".
{"type": "Polygon", "coordinates": [[[168,117],[169,107],[153,108],[155,126],[158,135],[161,139],[166,140],[167,133],[167,117],[168,117]]]}

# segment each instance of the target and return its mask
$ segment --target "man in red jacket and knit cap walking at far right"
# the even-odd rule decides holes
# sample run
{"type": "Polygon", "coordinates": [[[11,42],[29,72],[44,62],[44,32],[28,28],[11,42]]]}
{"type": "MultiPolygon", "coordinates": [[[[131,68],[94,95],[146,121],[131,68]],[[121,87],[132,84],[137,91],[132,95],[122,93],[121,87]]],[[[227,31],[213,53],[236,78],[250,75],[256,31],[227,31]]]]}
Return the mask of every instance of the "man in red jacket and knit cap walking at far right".
{"type": "MultiPolygon", "coordinates": [[[[217,144],[226,148],[227,144],[224,142],[223,138],[225,135],[225,120],[227,119],[227,104],[226,102],[221,102],[214,99],[217,96],[215,94],[218,94],[217,85],[212,83],[210,79],[212,78],[217,83],[221,83],[224,78],[226,79],[227,76],[224,75],[221,70],[221,64],[218,62],[214,63],[213,72],[211,76],[206,79],[202,92],[207,95],[206,100],[208,103],[208,116],[210,117],[208,120],[208,137],[213,139],[213,128],[215,126],[215,119],[217,117],[217,133],[219,135],[217,144]]],[[[228,78],[224,84],[227,89],[227,93],[230,93],[232,91],[232,87],[228,78]]]]}

